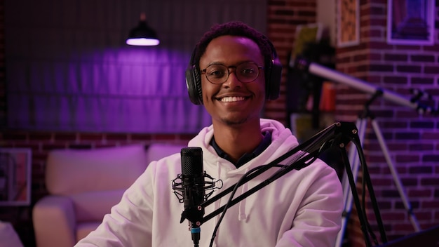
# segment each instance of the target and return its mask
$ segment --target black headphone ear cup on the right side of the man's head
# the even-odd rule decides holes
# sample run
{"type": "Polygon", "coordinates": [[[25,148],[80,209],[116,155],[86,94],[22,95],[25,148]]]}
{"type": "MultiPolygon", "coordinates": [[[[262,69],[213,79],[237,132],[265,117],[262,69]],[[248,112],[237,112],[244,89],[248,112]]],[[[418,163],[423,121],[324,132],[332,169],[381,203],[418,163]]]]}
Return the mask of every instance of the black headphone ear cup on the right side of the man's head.
{"type": "Polygon", "coordinates": [[[265,98],[267,100],[276,100],[279,98],[282,79],[282,64],[277,57],[271,60],[269,71],[266,71],[266,73],[265,98]]]}

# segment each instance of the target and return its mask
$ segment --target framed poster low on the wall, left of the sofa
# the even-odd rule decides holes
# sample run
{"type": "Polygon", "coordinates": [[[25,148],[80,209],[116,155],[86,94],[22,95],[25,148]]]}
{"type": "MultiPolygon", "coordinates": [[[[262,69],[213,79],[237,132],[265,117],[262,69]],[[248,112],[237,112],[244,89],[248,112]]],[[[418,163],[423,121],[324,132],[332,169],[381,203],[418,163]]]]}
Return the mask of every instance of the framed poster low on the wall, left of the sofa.
{"type": "Polygon", "coordinates": [[[29,206],[31,149],[0,148],[0,206],[29,206]]]}

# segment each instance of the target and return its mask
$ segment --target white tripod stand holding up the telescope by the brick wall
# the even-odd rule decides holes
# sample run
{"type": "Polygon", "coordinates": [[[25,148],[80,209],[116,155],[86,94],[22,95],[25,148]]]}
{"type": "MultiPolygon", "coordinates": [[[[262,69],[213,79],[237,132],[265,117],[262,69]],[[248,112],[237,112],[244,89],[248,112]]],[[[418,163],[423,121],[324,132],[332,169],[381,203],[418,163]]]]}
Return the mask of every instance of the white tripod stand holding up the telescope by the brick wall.
{"type": "MultiPolygon", "coordinates": [[[[410,205],[410,202],[407,200],[407,196],[405,195],[403,185],[398,177],[398,173],[395,167],[393,166],[393,161],[389,155],[389,149],[386,146],[386,142],[384,141],[383,135],[379,129],[377,120],[374,118],[374,115],[372,114],[372,112],[370,112],[369,109],[369,106],[372,103],[372,101],[381,94],[382,91],[379,90],[376,93],[374,93],[374,95],[372,95],[372,98],[365,103],[365,109],[363,113],[358,116],[358,119],[356,121],[356,126],[358,128],[358,137],[360,138],[360,142],[363,143],[367,122],[370,121],[372,129],[375,135],[377,135],[379,146],[381,147],[381,151],[383,152],[384,158],[386,159],[386,163],[389,165],[389,169],[393,177],[393,182],[395,182],[395,185],[398,188],[398,192],[400,194],[401,199],[403,200],[410,221],[412,222],[414,230],[416,232],[419,232],[421,230],[419,227],[419,223],[417,222],[416,216],[413,214],[412,206],[410,205]]],[[[355,152],[356,151],[355,148],[356,147],[351,146],[351,148],[349,149],[349,163],[351,163],[351,171],[353,174],[353,178],[356,179],[358,176],[358,168],[360,166],[360,162],[358,160],[358,153],[355,152]]],[[[342,246],[344,232],[346,230],[346,224],[347,221],[349,220],[349,216],[351,214],[351,209],[352,209],[352,194],[349,191],[349,182],[347,182],[346,180],[346,174],[344,174],[343,176],[342,187],[343,187],[344,213],[342,217],[342,229],[340,229],[340,232],[337,236],[337,241],[335,246],[342,246]]]]}

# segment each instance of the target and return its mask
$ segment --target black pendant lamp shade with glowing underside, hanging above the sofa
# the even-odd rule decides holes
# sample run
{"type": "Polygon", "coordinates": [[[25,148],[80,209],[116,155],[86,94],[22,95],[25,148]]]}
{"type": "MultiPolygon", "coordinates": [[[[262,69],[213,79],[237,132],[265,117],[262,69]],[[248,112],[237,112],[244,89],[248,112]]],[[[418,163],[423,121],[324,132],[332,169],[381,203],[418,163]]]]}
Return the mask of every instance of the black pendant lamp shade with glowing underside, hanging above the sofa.
{"type": "Polygon", "coordinates": [[[157,46],[160,41],[154,29],[147,25],[145,14],[140,15],[139,25],[130,30],[126,44],[130,46],[157,46]]]}

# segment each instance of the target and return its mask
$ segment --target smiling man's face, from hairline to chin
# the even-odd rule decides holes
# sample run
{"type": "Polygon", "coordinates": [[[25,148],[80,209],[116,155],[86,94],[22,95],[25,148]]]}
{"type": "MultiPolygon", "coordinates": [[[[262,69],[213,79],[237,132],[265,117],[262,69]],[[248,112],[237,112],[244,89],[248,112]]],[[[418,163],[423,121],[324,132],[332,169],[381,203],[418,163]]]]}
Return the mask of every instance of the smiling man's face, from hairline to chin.
{"type": "MultiPolygon", "coordinates": [[[[243,83],[236,78],[235,67],[242,62],[255,62],[264,67],[264,58],[257,44],[240,36],[219,36],[212,39],[200,59],[200,69],[212,64],[229,67],[229,78],[223,84],[212,84],[201,74],[203,105],[213,122],[228,125],[259,121],[265,100],[264,69],[255,81],[243,83]]],[[[259,122],[258,122],[259,123],[259,122]]]]}

